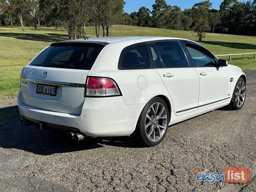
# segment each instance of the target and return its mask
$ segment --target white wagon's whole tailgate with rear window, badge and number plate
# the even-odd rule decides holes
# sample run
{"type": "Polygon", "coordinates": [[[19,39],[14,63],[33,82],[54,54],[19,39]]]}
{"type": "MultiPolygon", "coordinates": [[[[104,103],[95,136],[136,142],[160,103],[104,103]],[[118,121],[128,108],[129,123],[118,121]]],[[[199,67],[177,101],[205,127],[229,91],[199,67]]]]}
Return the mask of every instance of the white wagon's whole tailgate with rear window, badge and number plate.
{"type": "Polygon", "coordinates": [[[86,77],[103,47],[63,42],[45,48],[22,71],[22,102],[44,110],[81,114],[86,77]]]}

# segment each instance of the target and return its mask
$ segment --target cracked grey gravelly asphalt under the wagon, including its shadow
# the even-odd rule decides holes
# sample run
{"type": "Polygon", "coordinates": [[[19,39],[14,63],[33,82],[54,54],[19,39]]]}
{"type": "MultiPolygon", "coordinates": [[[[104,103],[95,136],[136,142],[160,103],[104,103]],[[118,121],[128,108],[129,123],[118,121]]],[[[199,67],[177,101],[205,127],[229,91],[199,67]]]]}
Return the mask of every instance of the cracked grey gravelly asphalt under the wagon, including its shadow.
{"type": "Polygon", "coordinates": [[[256,191],[256,71],[242,110],[225,108],[171,126],[156,147],[130,137],[70,141],[22,126],[16,99],[0,101],[0,191],[256,191]],[[197,182],[196,168],[247,167],[246,184],[197,182]]]}

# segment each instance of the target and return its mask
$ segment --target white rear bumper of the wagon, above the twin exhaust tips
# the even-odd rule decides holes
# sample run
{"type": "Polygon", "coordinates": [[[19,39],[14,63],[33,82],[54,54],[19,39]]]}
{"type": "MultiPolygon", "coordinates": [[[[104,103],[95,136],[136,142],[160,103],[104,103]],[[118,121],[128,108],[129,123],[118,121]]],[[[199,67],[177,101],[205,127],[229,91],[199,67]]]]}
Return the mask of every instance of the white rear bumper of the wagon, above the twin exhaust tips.
{"type": "Polygon", "coordinates": [[[144,104],[126,105],[122,96],[108,98],[85,98],[80,115],[42,110],[25,105],[18,93],[21,116],[78,128],[80,132],[95,137],[128,136],[134,132],[144,104]]]}

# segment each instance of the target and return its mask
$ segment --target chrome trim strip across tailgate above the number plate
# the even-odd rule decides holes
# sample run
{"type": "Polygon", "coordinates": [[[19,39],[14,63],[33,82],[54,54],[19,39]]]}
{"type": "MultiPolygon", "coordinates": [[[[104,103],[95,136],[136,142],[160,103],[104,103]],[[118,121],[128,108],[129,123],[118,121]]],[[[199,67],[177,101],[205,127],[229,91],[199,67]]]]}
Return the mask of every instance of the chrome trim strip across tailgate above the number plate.
{"type": "Polygon", "coordinates": [[[30,79],[30,78],[23,78],[23,77],[21,77],[20,80],[26,81],[26,82],[32,82],[32,83],[45,84],[45,85],[69,86],[69,87],[85,88],[85,83],[84,84],[79,84],[79,83],[46,81],[46,80],[30,79]]]}

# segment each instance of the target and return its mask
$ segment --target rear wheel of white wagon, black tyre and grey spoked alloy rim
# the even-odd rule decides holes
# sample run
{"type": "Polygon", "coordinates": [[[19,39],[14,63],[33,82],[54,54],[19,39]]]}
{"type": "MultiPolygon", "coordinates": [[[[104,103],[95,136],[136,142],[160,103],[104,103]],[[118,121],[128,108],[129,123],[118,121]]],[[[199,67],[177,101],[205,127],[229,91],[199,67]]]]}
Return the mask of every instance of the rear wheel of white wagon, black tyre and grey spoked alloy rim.
{"type": "Polygon", "coordinates": [[[143,108],[134,132],[144,146],[156,146],[165,137],[170,121],[168,107],[160,97],[152,98],[143,108]]]}

